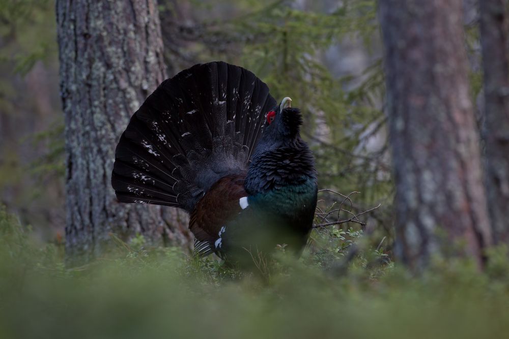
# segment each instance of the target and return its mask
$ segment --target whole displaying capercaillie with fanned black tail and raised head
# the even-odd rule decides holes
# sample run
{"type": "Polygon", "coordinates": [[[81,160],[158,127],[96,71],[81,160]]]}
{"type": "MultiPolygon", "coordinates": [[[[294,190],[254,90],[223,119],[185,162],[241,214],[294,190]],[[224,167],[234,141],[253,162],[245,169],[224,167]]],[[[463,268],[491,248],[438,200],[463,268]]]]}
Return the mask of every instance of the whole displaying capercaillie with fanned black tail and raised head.
{"type": "Polygon", "coordinates": [[[317,204],[300,110],[253,73],[200,64],[162,82],[134,113],[111,183],[121,202],[183,208],[195,251],[229,262],[278,244],[300,253],[317,204]]]}

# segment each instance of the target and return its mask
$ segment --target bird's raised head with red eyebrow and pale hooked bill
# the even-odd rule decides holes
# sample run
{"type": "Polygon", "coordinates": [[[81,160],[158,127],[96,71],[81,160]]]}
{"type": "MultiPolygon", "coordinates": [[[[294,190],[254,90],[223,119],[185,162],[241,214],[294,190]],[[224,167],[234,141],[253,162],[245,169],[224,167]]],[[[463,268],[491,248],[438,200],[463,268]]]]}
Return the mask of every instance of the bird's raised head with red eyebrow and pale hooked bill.
{"type": "MultiPolygon", "coordinates": [[[[287,146],[299,137],[302,114],[291,105],[292,99],[285,98],[279,105],[265,114],[265,127],[260,143],[269,146],[287,146]]],[[[273,148],[273,147],[268,147],[273,148]]]]}

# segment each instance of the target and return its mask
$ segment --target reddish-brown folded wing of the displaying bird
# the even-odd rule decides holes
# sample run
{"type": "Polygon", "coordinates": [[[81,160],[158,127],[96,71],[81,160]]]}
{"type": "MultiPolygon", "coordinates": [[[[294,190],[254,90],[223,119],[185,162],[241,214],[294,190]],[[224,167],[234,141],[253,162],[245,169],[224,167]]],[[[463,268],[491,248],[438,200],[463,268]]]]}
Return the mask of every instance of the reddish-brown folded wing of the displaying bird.
{"type": "Polygon", "coordinates": [[[197,240],[214,243],[221,227],[242,210],[239,199],[247,196],[245,177],[245,172],[223,176],[198,201],[189,220],[189,229],[197,240]]]}

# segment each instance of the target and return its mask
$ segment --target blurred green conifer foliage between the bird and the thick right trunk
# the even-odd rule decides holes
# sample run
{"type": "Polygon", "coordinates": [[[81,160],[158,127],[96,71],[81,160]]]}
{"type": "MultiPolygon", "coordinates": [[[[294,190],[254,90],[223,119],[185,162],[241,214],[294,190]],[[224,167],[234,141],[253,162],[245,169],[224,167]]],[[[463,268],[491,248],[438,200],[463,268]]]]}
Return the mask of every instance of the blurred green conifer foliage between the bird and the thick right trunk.
{"type": "MultiPolygon", "coordinates": [[[[169,13],[178,12],[173,2],[164,3],[171,4],[169,13]]],[[[187,45],[190,63],[222,59],[241,65],[267,82],[276,99],[291,97],[305,117],[303,135],[314,147],[320,186],[345,193],[362,188],[371,193],[362,196],[363,203],[389,204],[386,148],[373,153],[366,147],[385,125],[376,2],[303,4],[307,7],[288,1],[192,2],[193,24],[182,24],[193,41],[187,45]],[[328,63],[324,56],[345,40],[363,42],[373,61],[361,74],[338,77],[331,68],[343,55],[337,52],[337,61],[328,63]]],[[[170,62],[177,57],[172,56],[170,62]]]]}

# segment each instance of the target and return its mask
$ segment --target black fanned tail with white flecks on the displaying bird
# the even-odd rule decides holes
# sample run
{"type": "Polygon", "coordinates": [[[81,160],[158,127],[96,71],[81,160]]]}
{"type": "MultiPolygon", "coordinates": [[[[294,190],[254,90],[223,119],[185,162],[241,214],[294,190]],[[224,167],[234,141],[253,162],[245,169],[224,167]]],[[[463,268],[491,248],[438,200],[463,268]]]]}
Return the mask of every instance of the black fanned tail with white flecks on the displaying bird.
{"type": "Polygon", "coordinates": [[[246,170],[275,105],[254,74],[222,62],[165,80],[120,138],[111,178],[119,201],[192,211],[215,181],[246,170]]]}

